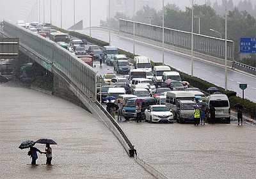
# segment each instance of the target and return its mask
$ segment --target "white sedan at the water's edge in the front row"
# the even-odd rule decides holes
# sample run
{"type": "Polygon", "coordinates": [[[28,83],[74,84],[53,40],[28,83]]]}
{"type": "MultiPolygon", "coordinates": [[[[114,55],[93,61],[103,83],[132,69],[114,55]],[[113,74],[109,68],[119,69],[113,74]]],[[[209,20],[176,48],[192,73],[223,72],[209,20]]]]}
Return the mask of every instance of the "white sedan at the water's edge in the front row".
{"type": "Polygon", "coordinates": [[[150,105],[143,115],[145,121],[173,123],[173,114],[166,105],[150,105]]]}

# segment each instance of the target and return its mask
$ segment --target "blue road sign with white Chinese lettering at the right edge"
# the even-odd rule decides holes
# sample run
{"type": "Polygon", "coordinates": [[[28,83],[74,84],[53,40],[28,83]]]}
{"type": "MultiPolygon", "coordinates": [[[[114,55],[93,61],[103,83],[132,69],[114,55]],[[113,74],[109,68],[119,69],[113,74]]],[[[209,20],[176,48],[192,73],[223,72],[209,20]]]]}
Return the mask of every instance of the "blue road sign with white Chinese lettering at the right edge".
{"type": "Polygon", "coordinates": [[[240,53],[256,53],[256,37],[241,37],[240,53]]]}

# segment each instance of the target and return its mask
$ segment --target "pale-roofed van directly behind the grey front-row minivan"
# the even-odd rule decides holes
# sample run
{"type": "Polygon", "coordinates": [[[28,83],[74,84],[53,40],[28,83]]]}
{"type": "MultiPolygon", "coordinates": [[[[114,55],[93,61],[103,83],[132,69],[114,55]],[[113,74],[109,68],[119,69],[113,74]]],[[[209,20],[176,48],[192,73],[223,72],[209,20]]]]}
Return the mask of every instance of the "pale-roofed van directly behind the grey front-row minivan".
{"type": "Polygon", "coordinates": [[[166,103],[165,105],[172,109],[173,118],[176,119],[177,102],[181,100],[192,100],[195,101],[195,95],[190,91],[167,91],[166,92],[166,103]]]}

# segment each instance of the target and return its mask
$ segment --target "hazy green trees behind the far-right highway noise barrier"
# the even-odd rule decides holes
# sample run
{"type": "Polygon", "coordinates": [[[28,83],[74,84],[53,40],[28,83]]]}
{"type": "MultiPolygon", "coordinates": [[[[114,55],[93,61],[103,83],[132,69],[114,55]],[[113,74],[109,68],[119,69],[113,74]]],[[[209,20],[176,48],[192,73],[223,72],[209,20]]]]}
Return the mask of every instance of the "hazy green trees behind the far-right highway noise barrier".
{"type": "MultiPolygon", "coordinates": [[[[228,3],[230,3],[230,1],[228,1],[228,3]]],[[[221,6],[223,6],[223,4],[221,6]]],[[[247,60],[239,58],[240,38],[256,36],[255,17],[246,10],[239,10],[239,8],[234,6],[233,10],[228,10],[227,39],[234,41],[236,61],[256,67],[256,54],[251,54],[250,59],[247,60]]],[[[162,14],[162,10],[157,11],[149,6],[143,6],[141,10],[136,12],[134,19],[136,22],[162,26],[162,14]]],[[[191,16],[191,7],[186,7],[186,10],[182,11],[176,4],[168,3],[164,6],[164,27],[191,32],[191,16]]],[[[100,26],[109,27],[108,24],[110,23],[112,29],[119,29],[118,19],[133,20],[133,17],[127,17],[124,13],[117,12],[114,18],[107,19],[106,21],[100,20],[100,26]]],[[[199,33],[199,20],[201,35],[220,38],[218,33],[210,31],[210,29],[214,29],[215,31],[220,32],[222,38],[225,38],[225,15],[218,14],[218,12],[211,7],[209,1],[206,1],[203,5],[195,4],[194,6],[194,33],[199,33]]]]}

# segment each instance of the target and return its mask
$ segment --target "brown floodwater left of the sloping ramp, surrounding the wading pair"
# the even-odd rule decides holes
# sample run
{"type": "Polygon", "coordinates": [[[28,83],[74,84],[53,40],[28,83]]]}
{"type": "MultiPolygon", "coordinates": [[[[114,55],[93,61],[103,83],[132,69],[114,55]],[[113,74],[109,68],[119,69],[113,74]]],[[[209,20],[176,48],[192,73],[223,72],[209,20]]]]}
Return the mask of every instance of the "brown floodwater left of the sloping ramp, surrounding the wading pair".
{"type": "MultiPolygon", "coordinates": [[[[154,178],[92,114],[61,98],[16,85],[0,84],[1,178],[154,178]],[[51,138],[52,166],[38,153],[31,166],[27,139],[51,138]]],[[[35,144],[44,151],[44,144],[35,144]]]]}

